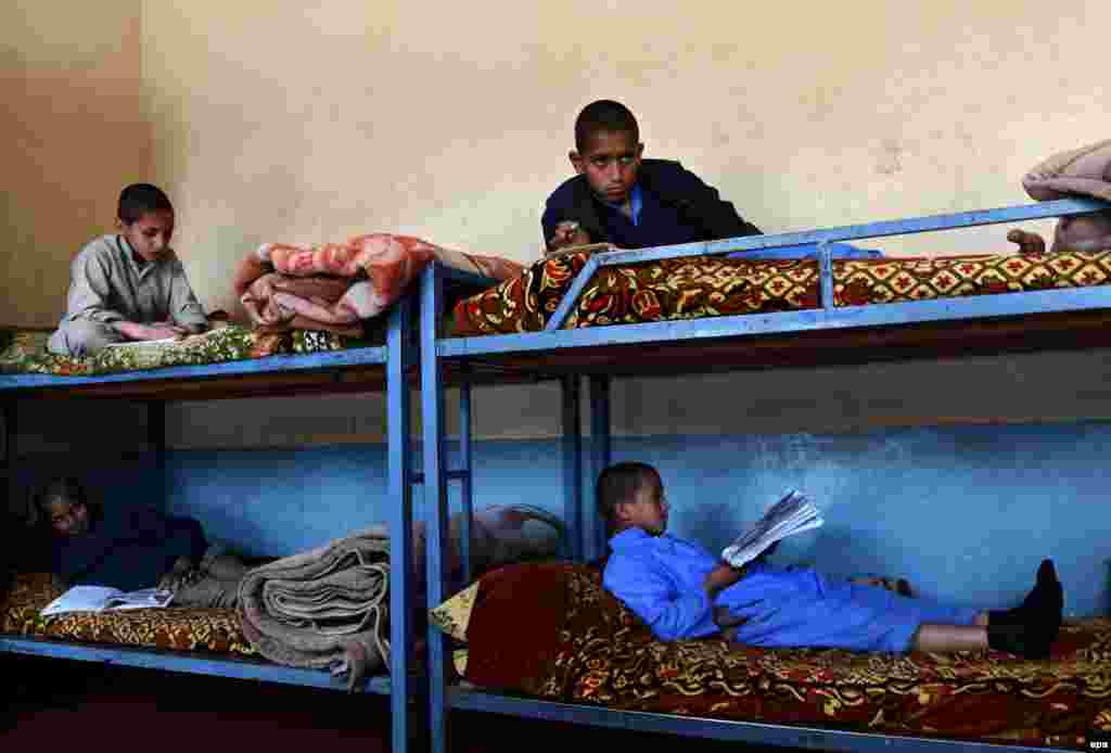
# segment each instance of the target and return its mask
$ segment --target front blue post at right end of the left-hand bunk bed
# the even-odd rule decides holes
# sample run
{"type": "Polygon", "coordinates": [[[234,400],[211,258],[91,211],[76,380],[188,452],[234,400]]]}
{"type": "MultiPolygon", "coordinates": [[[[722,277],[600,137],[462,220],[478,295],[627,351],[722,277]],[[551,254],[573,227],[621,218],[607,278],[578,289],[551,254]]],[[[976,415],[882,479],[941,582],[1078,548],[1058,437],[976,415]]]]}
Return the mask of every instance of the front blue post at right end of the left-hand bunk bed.
{"type": "Polygon", "coordinates": [[[389,454],[390,515],[390,724],[396,753],[409,745],[409,657],[413,653],[410,621],[413,609],[412,445],[410,444],[409,381],[412,347],[409,323],[412,299],[403,297],[390,313],[387,332],[386,411],[389,454]]]}

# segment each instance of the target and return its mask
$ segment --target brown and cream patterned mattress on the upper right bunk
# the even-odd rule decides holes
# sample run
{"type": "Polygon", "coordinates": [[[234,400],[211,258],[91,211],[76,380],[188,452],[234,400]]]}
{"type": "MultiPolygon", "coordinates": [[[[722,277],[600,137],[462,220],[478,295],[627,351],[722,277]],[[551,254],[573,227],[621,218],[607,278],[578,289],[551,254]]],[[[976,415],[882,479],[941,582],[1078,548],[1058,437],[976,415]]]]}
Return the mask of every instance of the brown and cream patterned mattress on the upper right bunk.
{"type": "MultiPolygon", "coordinates": [[[[521,277],[460,301],[453,337],[537,332],[559,307],[590,251],[538,261],[521,277]]],[[[1042,254],[841,259],[834,305],[865,305],[1111,283],[1111,250],[1042,254]]],[[[817,309],[814,259],[663,259],[607,267],[591,279],[563,329],[817,309]]]]}

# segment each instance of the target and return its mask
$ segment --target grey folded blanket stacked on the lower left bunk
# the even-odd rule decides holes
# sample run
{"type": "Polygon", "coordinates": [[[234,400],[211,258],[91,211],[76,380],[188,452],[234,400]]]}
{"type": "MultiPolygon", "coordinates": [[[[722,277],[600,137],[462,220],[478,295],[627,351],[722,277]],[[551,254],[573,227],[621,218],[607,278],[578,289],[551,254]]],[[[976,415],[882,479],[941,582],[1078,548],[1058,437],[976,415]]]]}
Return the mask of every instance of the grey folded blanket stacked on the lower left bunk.
{"type": "Polygon", "coordinates": [[[239,585],[243,634],[267,659],[348,674],[389,661],[390,544],[381,526],[256,568],[239,585]]]}

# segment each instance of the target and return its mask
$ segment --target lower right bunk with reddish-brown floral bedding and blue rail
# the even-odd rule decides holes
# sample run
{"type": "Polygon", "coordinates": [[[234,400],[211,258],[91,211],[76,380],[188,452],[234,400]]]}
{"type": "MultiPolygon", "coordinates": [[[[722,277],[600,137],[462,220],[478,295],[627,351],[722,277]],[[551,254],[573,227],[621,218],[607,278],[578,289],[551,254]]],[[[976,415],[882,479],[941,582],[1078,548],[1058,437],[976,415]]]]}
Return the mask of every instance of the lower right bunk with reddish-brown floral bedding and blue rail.
{"type": "Polygon", "coordinates": [[[450,707],[821,750],[1088,750],[1111,736],[1111,619],[1002,652],[667,643],[594,565],[504,568],[431,612],[466,647],[450,707]]]}

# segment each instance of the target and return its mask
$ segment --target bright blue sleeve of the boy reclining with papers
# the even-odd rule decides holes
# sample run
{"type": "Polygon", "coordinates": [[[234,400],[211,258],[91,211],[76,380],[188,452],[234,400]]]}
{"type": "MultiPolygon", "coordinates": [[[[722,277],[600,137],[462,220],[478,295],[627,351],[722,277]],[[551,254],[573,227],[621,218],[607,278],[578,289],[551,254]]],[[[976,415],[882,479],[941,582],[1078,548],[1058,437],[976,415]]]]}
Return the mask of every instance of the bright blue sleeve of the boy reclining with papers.
{"type": "Polygon", "coordinates": [[[702,589],[677,592],[651,563],[613,555],[605,565],[602,584],[635,612],[662,641],[702,637],[718,632],[713,603],[702,589]]]}

